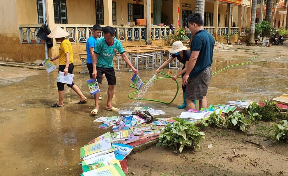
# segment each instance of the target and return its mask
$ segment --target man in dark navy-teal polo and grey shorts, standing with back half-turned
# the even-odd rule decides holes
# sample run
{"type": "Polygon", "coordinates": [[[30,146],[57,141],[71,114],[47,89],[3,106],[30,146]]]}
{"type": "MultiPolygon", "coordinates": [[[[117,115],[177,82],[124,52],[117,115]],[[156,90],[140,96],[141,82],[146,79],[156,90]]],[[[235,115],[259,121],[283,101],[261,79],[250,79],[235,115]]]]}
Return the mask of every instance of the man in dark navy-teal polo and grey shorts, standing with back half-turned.
{"type": "Polygon", "coordinates": [[[204,29],[199,13],[189,15],[187,23],[194,37],[189,63],[182,79],[186,85],[186,110],[195,109],[194,100],[199,100],[199,109],[207,108],[206,94],[212,77],[214,38],[204,29]]]}

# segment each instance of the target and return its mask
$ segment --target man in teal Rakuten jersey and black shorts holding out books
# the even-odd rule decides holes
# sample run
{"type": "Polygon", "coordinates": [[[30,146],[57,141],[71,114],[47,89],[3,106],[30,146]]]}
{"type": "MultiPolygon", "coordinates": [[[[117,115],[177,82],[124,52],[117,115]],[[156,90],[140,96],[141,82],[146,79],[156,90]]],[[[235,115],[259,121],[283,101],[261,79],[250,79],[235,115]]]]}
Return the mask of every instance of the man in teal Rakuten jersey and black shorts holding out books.
{"type": "MultiPolygon", "coordinates": [[[[116,76],[113,68],[113,58],[116,54],[116,51],[121,54],[123,60],[126,64],[132,69],[132,71],[138,74],[138,70],[135,69],[128,57],[125,54],[124,48],[119,40],[115,38],[115,29],[111,26],[106,26],[103,29],[104,37],[101,37],[96,42],[96,47],[94,49],[94,54],[92,58],[93,64],[93,73],[92,77],[97,79],[99,88],[102,84],[102,75],[105,74],[108,82],[108,98],[106,109],[109,111],[119,111],[118,108],[112,106],[112,98],[114,95],[114,86],[116,84],[116,76]]],[[[101,90],[101,89],[100,89],[101,90]]],[[[99,111],[99,96],[100,92],[94,95],[95,100],[95,109],[93,109],[93,114],[97,114],[99,111]]],[[[92,113],[92,112],[91,112],[92,113]]]]}

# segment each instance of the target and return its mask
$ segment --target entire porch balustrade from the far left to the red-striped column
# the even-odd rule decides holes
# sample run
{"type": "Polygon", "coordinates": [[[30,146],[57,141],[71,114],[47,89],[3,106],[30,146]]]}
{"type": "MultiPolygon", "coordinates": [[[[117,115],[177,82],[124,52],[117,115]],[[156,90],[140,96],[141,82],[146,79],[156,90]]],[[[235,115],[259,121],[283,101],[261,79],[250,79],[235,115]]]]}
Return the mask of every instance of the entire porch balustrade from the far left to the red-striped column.
{"type": "MultiPolygon", "coordinates": [[[[40,44],[41,39],[36,37],[42,24],[19,25],[21,43],[40,44]]],[[[71,43],[86,43],[90,35],[92,35],[93,25],[88,24],[56,24],[66,30],[70,35],[68,40],[71,43]]],[[[100,25],[102,29],[106,25],[100,25]]],[[[146,26],[128,26],[113,25],[115,29],[115,37],[120,41],[140,41],[146,40],[146,26]]],[[[151,39],[163,39],[164,36],[174,34],[175,28],[172,30],[169,26],[151,26],[151,39]]],[[[103,30],[102,30],[103,36],[103,30]]]]}

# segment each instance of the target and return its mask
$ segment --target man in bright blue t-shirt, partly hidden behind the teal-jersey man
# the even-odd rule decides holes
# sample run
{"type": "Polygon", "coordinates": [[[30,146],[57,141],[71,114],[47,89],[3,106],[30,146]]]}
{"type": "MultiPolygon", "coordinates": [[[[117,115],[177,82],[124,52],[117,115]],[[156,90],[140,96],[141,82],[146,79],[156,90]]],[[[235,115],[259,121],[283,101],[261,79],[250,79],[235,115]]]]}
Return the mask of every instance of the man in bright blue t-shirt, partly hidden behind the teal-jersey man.
{"type": "MultiPolygon", "coordinates": [[[[86,53],[87,53],[87,61],[86,61],[86,66],[89,70],[89,74],[90,74],[90,78],[92,78],[92,73],[93,73],[93,66],[92,66],[92,56],[94,54],[94,47],[96,45],[97,42],[97,38],[101,37],[101,32],[102,32],[102,28],[100,25],[95,24],[92,27],[92,34],[91,36],[88,38],[87,42],[86,42],[86,53]]],[[[105,74],[103,74],[102,79],[105,78],[105,74]]],[[[95,97],[93,96],[94,101],[95,101],[95,97]]],[[[99,97],[99,99],[102,99],[101,95],[99,97]]]]}

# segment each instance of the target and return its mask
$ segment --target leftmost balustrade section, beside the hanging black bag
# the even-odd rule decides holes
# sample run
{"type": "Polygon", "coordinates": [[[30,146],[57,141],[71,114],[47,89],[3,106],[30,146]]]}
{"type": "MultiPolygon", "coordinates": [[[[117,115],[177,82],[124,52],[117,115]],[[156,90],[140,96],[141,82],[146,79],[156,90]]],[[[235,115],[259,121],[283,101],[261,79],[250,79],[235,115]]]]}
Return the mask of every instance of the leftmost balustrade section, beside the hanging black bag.
{"type": "Polygon", "coordinates": [[[43,44],[44,41],[36,37],[42,24],[19,25],[20,40],[23,44],[43,44]]]}

